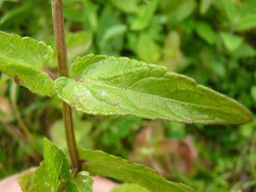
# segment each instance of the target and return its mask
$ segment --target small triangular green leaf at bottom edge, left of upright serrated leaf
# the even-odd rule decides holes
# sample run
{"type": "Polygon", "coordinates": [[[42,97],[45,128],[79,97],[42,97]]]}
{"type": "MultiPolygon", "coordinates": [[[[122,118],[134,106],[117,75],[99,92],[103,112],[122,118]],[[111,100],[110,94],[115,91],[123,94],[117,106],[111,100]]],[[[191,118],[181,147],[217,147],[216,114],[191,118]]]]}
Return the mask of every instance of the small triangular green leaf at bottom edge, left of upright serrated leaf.
{"type": "Polygon", "coordinates": [[[34,171],[34,177],[31,180],[31,187],[29,192],[51,192],[54,189],[55,186],[49,177],[49,170],[47,170],[46,164],[41,162],[40,166],[34,171]]]}

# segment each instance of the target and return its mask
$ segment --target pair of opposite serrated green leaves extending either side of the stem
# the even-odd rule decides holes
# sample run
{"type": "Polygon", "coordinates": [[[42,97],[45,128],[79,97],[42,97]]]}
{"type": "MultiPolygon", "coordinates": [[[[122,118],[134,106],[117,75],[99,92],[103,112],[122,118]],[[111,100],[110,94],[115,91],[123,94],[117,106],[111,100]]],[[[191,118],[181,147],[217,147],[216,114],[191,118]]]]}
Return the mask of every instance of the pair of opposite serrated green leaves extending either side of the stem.
{"type": "Polygon", "coordinates": [[[183,123],[241,124],[252,121],[242,104],[165,67],[127,57],[78,57],[77,79],[46,69],[53,50],[43,42],[0,32],[0,71],[31,92],[53,96],[92,115],[134,115],[183,123]],[[55,80],[55,82],[54,82],[55,80]],[[54,89],[53,89],[54,87],[54,89]]]}

